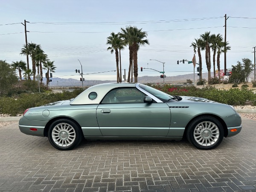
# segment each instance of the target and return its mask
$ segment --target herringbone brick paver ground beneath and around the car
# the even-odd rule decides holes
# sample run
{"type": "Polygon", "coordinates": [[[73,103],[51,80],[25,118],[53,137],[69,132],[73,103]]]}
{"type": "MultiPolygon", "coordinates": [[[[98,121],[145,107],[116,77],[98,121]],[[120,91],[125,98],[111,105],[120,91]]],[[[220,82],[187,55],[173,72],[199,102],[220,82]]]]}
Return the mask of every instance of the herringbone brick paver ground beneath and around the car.
{"type": "MultiPolygon", "coordinates": [[[[252,118],[253,119],[253,118],[252,118]]],[[[0,191],[256,191],[256,121],[214,150],[188,141],[83,141],[58,151],[47,138],[0,123],[0,191]]]]}

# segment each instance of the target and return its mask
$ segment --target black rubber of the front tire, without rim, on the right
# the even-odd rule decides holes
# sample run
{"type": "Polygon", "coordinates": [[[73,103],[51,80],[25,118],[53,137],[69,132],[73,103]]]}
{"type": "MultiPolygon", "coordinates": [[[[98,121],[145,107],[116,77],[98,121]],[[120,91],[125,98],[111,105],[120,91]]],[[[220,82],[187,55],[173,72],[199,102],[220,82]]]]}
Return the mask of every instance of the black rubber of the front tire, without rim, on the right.
{"type": "Polygon", "coordinates": [[[198,149],[213,149],[216,148],[219,144],[221,144],[222,140],[224,137],[224,129],[223,126],[221,125],[221,122],[216,119],[215,117],[211,117],[211,116],[201,116],[198,117],[197,119],[195,119],[194,121],[192,121],[188,127],[187,130],[187,139],[189,140],[189,142],[194,145],[196,148],[198,149]],[[218,140],[216,141],[216,143],[214,143],[213,145],[210,146],[202,146],[200,144],[198,144],[194,138],[194,130],[195,127],[200,123],[200,122],[204,122],[204,121],[209,121],[209,122],[213,122],[215,125],[217,125],[218,130],[219,130],[219,137],[218,140]]]}

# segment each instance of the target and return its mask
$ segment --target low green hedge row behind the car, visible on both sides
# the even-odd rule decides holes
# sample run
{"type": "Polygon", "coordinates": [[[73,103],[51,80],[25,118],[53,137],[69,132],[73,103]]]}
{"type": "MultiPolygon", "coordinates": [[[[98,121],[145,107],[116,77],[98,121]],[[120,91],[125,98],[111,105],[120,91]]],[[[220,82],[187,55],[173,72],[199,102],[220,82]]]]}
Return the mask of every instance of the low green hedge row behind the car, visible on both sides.
{"type": "MultiPolygon", "coordinates": [[[[195,86],[151,85],[165,93],[176,96],[195,96],[210,99],[228,105],[256,105],[256,94],[253,90],[242,87],[219,90],[215,87],[197,88],[195,86]]],[[[75,98],[83,90],[76,89],[73,92],[62,93],[22,93],[18,97],[0,97],[0,113],[15,116],[23,113],[27,108],[38,107],[51,102],[75,98]]]]}

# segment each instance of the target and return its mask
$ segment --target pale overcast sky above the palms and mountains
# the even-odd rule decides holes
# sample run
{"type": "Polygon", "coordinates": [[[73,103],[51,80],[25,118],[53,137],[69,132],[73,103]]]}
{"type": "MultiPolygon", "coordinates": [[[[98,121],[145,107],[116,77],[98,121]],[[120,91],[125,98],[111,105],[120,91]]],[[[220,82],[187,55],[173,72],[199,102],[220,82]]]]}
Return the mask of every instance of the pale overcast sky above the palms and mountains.
{"type": "MultiPolygon", "coordinates": [[[[107,51],[106,39],[128,25],[148,33],[150,45],[138,52],[139,77],[159,76],[165,62],[166,76],[193,73],[193,65],[177,65],[177,60],[192,61],[195,38],[210,31],[224,37],[224,15],[227,14],[227,68],[242,58],[254,63],[256,46],[256,0],[0,0],[0,60],[26,61],[20,55],[25,44],[24,20],[28,42],[40,44],[57,67],[54,77],[115,80],[115,55],[107,51]],[[247,18],[241,18],[247,17],[247,18]],[[43,22],[43,23],[40,23],[43,22]],[[17,23],[17,24],[12,24],[17,23]],[[50,23],[50,24],[49,24],[50,23]],[[10,24],[10,25],[6,25],[10,24]],[[12,34],[16,33],[16,34],[12,34]]],[[[121,52],[122,74],[128,74],[129,51],[121,52]]],[[[198,55],[196,55],[198,62],[198,55]]],[[[203,72],[207,72],[202,52],[203,72]]],[[[30,61],[31,64],[31,61],[30,61]]],[[[224,69],[224,54],[221,55],[224,69]]],[[[213,72],[213,67],[211,69],[213,72]]],[[[43,72],[45,73],[45,71],[43,72]]]]}

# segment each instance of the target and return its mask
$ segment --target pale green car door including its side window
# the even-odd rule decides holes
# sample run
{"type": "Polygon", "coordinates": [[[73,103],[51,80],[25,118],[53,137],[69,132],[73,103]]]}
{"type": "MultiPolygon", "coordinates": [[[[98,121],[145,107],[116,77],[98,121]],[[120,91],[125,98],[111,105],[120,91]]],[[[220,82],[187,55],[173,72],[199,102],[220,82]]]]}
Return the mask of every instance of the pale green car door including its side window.
{"type": "Polygon", "coordinates": [[[144,93],[136,88],[113,90],[118,102],[108,102],[108,93],[96,110],[103,136],[165,137],[171,120],[166,103],[144,103],[144,93]]]}

